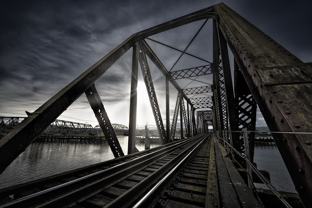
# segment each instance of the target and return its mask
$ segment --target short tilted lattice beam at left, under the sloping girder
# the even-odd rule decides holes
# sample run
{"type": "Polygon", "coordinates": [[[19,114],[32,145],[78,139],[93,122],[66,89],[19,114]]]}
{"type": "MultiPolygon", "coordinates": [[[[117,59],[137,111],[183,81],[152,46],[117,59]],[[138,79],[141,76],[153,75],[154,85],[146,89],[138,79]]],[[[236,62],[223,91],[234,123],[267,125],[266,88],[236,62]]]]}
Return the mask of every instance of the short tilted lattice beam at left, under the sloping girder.
{"type": "Polygon", "coordinates": [[[110,119],[107,116],[104,105],[102,104],[101,98],[95,88],[95,85],[91,85],[89,89],[85,92],[87,99],[91,105],[91,108],[97,118],[102,131],[105,135],[107,143],[110,145],[111,150],[115,157],[120,157],[124,155],[124,152],[119,144],[113,126],[110,119]]]}

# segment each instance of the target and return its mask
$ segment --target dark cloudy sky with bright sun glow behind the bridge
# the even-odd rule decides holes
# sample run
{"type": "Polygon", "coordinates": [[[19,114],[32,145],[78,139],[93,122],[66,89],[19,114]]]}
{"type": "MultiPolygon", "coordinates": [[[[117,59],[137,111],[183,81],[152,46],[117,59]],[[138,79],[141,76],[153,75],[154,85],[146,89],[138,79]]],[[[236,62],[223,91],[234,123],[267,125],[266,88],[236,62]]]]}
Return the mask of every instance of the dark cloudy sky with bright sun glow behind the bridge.
{"type": "MultiPolygon", "coordinates": [[[[219,2],[221,1],[1,0],[0,116],[26,116],[25,110],[34,111],[131,34],[219,2]]],[[[312,3],[309,0],[223,2],[299,59],[312,62],[312,3]]],[[[184,50],[201,24],[202,22],[195,23],[194,26],[181,28],[173,34],[156,36],[155,39],[184,50]]],[[[207,27],[209,25],[211,26],[208,23],[207,27]]],[[[210,38],[201,35],[196,41],[209,45],[211,40],[207,37],[210,38]]],[[[194,48],[193,51],[191,48],[189,50],[195,51],[194,48]]],[[[211,54],[199,51],[198,48],[196,50],[201,57],[211,54]]],[[[96,82],[111,122],[127,126],[131,56],[130,50],[96,82]]],[[[168,68],[176,60],[170,59],[168,55],[162,58],[168,68]]],[[[207,58],[211,59],[212,57],[207,58]]],[[[164,118],[164,79],[156,70],[152,77],[164,118]]],[[[154,125],[148,98],[141,91],[143,88],[143,83],[139,82],[138,125],[142,126],[147,122],[154,125]]],[[[176,99],[174,89],[170,89],[170,94],[170,108],[173,110],[176,99]]],[[[93,126],[96,124],[84,95],[59,119],[90,123],[93,126]]],[[[259,116],[258,123],[262,121],[259,116]]]]}

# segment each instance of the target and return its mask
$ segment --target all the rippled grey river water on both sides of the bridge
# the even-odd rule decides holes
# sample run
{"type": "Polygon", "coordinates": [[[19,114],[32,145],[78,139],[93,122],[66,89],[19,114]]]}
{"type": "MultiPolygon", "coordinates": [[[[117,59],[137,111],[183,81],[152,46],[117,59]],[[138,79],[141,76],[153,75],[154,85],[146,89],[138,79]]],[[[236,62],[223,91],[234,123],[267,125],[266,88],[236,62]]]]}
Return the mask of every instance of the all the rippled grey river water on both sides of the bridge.
{"type": "MultiPolygon", "coordinates": [[[[127,154],[128,136],[118,136],[127,154]]],[[[157,144],[151,144],[151,148],[157,144]]],[[[136,144],[142,151],[144,144],[136,144]]],[[[34,142],[0,175],[0,189],[77,168],[113,159],[108,144],[34,142]]],[[[293,192],[295,188],[276,146],[255,147],[255,162],[259,170],[270,173],[271,183],[279,191],[293,192]]]]}

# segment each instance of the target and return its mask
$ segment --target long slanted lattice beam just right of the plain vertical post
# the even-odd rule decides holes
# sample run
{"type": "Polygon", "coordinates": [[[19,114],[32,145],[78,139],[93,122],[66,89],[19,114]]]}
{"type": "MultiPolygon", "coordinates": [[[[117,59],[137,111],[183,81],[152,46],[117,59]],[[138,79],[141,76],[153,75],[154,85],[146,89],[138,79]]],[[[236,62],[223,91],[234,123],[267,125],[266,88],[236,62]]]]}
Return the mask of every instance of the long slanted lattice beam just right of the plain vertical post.
{"type": "Polygon", "coordinates": [[[148,90],[148,95],[149,95],[150,103],[151,103],[151,106],[153,109],[153,113],[154,113],[157,129],[158,129],[160,141],[161,141],[161,144],[166,144],[166,143],[168,143],[168,140],[166,138],[165,130],[163,127],[161,114],[160,114],[160,110],[159,110],[159,106],[158,106],[158,102],[157,102],[157,98],[156,98],[156,94],[155,94],[155,88],[153,85],[152,76],[150,73],[148,61],[147,61],[147,58],[146,58],[146,55],[144,52],[144,47],[143,47],[142,43],[140,43],[140,49],[141,49],[141,51],[139,52],[139,62],[141,65],[141,70],[143,73],[145,85],[146,85],[146,88],[148,90]]]}

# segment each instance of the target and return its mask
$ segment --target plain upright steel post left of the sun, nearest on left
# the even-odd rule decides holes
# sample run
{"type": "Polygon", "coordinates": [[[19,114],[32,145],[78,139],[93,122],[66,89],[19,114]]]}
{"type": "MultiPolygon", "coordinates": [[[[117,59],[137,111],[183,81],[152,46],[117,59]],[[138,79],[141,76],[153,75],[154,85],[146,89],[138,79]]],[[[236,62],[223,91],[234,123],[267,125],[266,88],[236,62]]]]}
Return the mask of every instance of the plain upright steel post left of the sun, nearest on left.
{"type": "Polygon", "coordinates": [[[137,91],[138,63],[139,63],[139,48],[137,45],[134,45],[133,54],[132,54],[128,154],[131,154],[137,151],[136,125],[137,125],[137,99],[138,99],[138,91],[137,91]]]}

